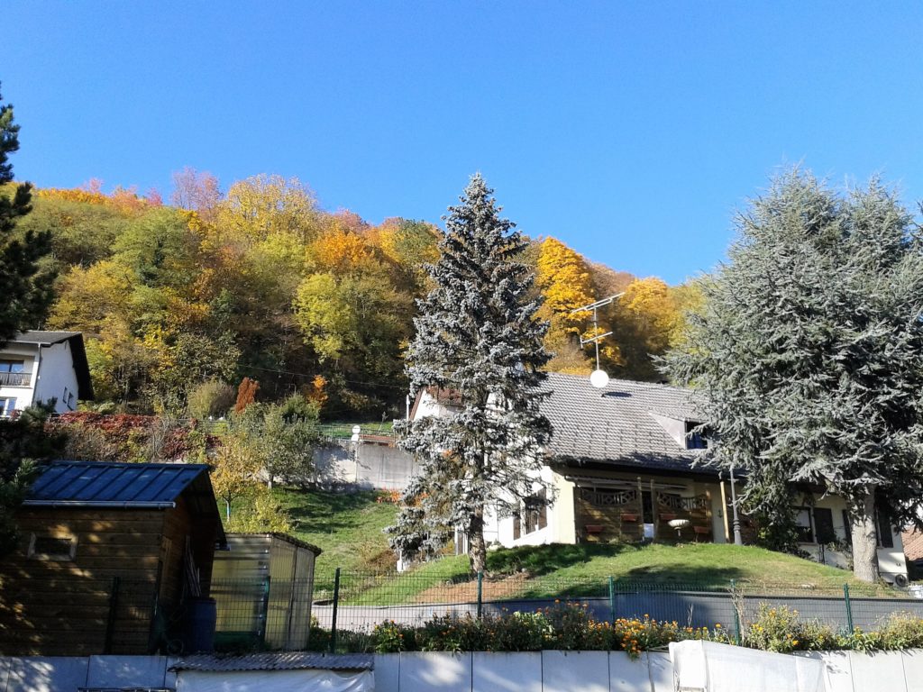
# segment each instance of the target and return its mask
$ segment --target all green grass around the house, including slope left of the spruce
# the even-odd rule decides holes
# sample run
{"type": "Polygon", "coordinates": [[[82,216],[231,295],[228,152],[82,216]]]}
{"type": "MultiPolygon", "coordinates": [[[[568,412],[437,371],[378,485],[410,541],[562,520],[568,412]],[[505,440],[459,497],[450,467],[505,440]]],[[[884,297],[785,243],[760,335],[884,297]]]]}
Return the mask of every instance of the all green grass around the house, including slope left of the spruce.
{"type": "MultiPolygon", "coordinates": [[[[382,530],[393,522],[397,508],[376,502],[378,493],[294,489],[277,493],[292,514],[294,535],[324,551],[318,558],[318,590],[330,589],[336,567],[381,575],[364,582],[366,603],[400,603],[440,584],[471,579],[463,555],[394,574],[394,557],[382,530]]],[[[524,574],[527,579],[521,579],[515,594],[533,598],[604,595],[610,576],[617,587],[644,583],[725,590],[731,579],[737,579],[789,592],[810,591],[806,585],[842,592],[844,583],[857,593],[869,591],[868,585],[858,584],[841,569],[762,548],[713,543],[526,546],[490,553],[487,569],[488,582],[524,574]]],[[[485,588],[485,593],[489,591],[485,588]]]]}

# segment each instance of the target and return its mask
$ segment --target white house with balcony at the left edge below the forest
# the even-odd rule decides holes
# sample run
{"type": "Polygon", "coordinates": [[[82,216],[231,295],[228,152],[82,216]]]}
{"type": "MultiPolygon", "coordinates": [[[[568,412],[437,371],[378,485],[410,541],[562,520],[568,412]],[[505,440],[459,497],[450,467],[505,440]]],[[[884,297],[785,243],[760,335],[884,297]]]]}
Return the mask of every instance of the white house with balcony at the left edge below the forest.
{"type": "Polygon", "coordinates": [[[54,399],[54,411],[91,400],[90,366],[78,331],[24,331],[0,348],[0,417],[54,399]]]}

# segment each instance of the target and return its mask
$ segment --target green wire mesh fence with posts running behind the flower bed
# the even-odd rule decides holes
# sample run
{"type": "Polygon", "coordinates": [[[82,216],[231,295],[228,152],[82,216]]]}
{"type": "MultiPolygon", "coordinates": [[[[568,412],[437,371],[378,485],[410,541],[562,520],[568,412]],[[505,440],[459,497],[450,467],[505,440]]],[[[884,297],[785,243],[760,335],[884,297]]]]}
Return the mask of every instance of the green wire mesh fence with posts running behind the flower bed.
{"type": "Polygon", "coordinates": [[[645,615],[680,626],[739,632],[762,603],[797,610],[841,631],[871,629],[895,612],[923,617],[923,601],[885,586],[737,580],[676,583],[626,579],[527,579],[426,573],[395,575],[337,570],[332,579],[297,582],[222,581],[212,584],[218,602],[219,648],[349,648],[375,626],[394,621],[421,626],[446,614],[481,617],[536,612],[556,603],[585,603],[599,621],[645,615]],[[315,589],[315,584],[322,587],[315,589]],[[313,621],[313,625],[312,625],[313,621]],[[313,641],[309,641],[313,638],[313,641]]]}

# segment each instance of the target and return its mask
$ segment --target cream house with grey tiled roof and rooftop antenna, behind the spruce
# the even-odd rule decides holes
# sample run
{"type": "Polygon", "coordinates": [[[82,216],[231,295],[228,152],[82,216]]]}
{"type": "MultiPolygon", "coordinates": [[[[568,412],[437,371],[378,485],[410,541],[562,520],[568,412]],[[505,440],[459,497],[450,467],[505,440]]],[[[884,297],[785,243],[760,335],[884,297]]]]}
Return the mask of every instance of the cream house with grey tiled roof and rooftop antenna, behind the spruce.
{"type": "MultiPolygon", "coordinates": [[[[692,430],[701,423],[692,393],[647,382],[549,374],[542,412],[554,435],[541,471],[557,490],[551,507],[524,505],[518,517],[489,519],[488,542],[507,547],[542,543],[733,541],[730,480],[695,466],[706,444],[692,430]]],[[[459,405],[447,390],[425,390],[411,418],[451,415],[459,405]]],[[[737,484],[737,490],[740,490],[737,484]]],[[[821,488],[798,488],[801,547],[816,559],[845,567],[836,548],[849,541],[845,502],[821,488]]],[[[889,580],[906,579],[900,533],[879,518],[879,562],[889,580]]],[[[745,543],[755,528],[741,516],[745,543]]]]}

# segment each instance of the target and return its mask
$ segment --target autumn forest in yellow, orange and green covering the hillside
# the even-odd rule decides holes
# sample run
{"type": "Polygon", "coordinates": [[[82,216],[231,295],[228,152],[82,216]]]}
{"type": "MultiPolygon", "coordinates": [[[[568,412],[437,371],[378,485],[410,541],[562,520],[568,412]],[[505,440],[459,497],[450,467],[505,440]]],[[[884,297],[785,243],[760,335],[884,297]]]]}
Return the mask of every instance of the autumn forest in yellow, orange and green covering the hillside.
{"type": "MultiPolygon", "coordinates": [[[[219,385],[236,388],[246,376],[258,382],[258,400],[302,391],[323,403],[327,420],[399,412],[402,348],[415,299],[428,290],[424,265],[438,257],[438,229],[331,213],[306,185],[277,175],[225,192],[208,173],[186,170],[174,181],[173,206],[156,192],[106,193],[96,181],[38,190],[18,221],[20,233],[52,233],[45,262],[57,280],[42,327],[88,336],[97,407],[218,418],[229,405],[219,385]]],[[[524,259],[545,298],[556,370],[590,369],[575,346],[590,314],[570,311],[624,291],[601,312],[602,327],[617,334],[605,366],[654,377],[650,354],[677,338],[681,311],[697,301],[695,286],[636,280],[553,238],[534,240],[524,259]]]]}

